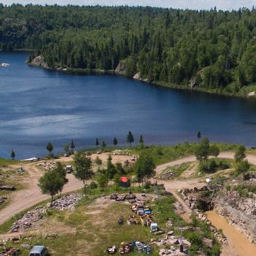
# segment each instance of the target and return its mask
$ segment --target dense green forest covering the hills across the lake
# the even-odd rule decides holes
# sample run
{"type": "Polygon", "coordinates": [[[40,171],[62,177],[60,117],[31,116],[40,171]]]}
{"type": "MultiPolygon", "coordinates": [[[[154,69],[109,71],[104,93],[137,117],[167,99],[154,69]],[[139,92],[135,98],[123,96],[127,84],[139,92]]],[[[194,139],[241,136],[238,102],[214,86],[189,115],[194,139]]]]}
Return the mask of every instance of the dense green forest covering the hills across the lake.
{"type": "Polygon", "coordinates": [[[256,82],[256,10],[0,4],[0,48],[51,68],[116,69],[164,85],[241,93],[256,82]]]}

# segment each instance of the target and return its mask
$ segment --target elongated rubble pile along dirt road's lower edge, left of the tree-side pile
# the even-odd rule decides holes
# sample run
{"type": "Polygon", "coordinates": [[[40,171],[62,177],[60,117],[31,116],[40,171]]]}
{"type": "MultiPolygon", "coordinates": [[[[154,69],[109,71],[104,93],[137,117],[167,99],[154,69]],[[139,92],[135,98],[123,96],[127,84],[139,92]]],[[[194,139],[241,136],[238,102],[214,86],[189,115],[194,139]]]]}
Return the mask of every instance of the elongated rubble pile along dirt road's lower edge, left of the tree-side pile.
{"type": "Polygon", "coordinates": [[[43,206],[38,206],[33,211],[28,211],[21,219],[12,225],[11,232],[18,232],[20,230],[35,227],[46,211],[47,208],[43,206]]]}

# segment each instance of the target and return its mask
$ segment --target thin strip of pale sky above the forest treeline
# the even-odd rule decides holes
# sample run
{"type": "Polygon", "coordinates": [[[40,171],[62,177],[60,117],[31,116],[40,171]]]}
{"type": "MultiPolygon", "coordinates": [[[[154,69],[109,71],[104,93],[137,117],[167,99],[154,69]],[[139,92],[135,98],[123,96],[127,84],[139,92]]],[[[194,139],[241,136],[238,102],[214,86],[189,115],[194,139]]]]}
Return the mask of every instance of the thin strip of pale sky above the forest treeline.
{"type": "Polygon", "coordinates": [[[238,9],[239,7],[252,8],[256,0],[0,0],[3,4],[79,4],[79,5],[150,5],[157,7],[173,7],[182,9],[211,9],[217,7],[222,10],[238,9]]]}

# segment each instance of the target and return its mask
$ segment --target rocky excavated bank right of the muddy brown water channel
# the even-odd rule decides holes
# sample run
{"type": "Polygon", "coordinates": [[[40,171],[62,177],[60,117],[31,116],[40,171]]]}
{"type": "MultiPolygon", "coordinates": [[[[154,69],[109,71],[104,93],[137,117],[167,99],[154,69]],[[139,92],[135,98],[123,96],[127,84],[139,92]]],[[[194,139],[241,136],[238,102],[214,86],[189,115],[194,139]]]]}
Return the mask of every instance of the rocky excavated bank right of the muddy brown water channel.
{"type": "Polygon", "coordinates": [[[214,199],[214,209],[256,244],[255,196],[241,197],[236,191],[222,192],[214,199]]]}

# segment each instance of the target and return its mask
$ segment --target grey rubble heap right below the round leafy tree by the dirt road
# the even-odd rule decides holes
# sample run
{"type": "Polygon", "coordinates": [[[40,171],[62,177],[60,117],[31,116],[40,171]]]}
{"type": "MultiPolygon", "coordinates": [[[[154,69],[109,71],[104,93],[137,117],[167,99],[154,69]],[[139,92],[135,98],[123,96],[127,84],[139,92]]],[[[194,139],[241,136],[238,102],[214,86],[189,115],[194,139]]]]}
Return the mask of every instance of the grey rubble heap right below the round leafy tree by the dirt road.
{"type": "Polygon", "coordinates": [[[50,207],[58,211],[74,211],[75,206],[82,197],[83,195],[81,194],[64,195],[64,197],[54,200],[50,207]]]}

